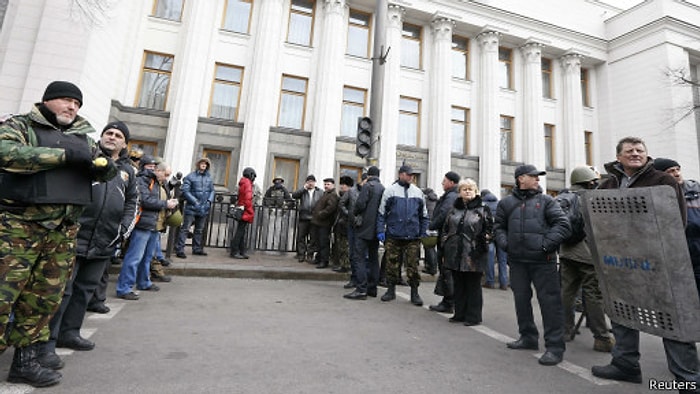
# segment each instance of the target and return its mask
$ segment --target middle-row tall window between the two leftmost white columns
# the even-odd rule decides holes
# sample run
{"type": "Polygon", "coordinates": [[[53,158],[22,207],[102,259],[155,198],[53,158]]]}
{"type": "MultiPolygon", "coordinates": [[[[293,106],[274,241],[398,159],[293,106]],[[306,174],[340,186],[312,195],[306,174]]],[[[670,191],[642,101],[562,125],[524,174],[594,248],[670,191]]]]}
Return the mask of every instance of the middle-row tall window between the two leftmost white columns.
{"type": "Polygon", "coordinates": [[[241,81],[243,81],[242,68],[223,64],[216,65],[209,116],[230,120],[238,118],[241,81]]]}

